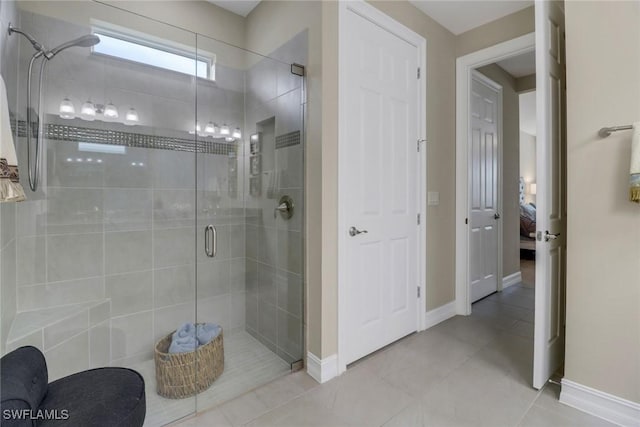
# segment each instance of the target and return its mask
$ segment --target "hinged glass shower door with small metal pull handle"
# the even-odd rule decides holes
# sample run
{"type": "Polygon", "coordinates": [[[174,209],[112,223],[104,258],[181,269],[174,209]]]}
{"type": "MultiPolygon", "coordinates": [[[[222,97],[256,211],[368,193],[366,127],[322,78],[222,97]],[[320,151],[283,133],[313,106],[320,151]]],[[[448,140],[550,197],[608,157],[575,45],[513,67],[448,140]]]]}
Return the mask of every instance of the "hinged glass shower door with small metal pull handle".
{"type": "MultiPolygon", "coordinates": [[[[197,48],[213,61],[197,79],[196,317],[222,328],[224,347],[201,411],[302,359],[302,78],[201,35],[197,48]],[[290,220],[276,209],[285,195],[290,220]]],[[[198,371],[212,363],[201,357],[198,371]]]]}

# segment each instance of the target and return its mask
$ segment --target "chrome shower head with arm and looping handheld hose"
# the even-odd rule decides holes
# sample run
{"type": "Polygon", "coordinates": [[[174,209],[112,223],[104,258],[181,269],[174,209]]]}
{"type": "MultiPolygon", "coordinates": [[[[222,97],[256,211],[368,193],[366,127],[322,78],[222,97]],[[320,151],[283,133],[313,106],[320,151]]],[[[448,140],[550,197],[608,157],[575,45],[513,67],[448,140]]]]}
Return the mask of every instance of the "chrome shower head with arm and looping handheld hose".
{"type": "Polygon", "coordinates": [[[62,43],[61,45],[54,47],[51,50],[47,50],[44,45],[39,43],[33,36],[29,33],[22,31],[19,28],[15,28],[11,23],[9,23],[9,30],[7,31],[9,35],[16,33],[24,36],[33,48],[36,50],[36,53],[33,54],[31,60],[29,61],[29,68],[27,70],[27,175],[29,178],[29,187],[31,191],[36,191],[38,189],[38,176],[40,174],[40,141],[42,135],[42,80],[44,78],[44,71],[47,66],[47,62],[53,59],[58,53],[62,52],[65,49],[69,49],[70,47],[91,47],[100,43],[100,38],[94,36],[92,34],[88,34],[85,36],[78,37],[74,40],[68,41],[66,43],[62,43]],[[36,59],[42,57],[40,62],[40,74],[38,78],[38,112],[37,112],[37,126],[36,126],[36,146],[35,146],[35,161],[31,163],[31,137],[33,133],[32,128],[32,108],[31,108],[31,75],[33,63],[36,59]]]}

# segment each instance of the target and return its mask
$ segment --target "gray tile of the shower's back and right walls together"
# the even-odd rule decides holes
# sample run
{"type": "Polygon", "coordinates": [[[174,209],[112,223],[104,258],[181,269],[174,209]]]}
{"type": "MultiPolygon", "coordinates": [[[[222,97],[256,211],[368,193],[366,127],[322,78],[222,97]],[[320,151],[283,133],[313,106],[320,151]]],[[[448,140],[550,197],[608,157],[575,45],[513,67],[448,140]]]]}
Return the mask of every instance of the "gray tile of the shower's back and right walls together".
{"type": "MultiPolygon", "coordinates": [[[[24,15],[39,37],[66,40],[87,31],[24,15]]],[[[276,53],[305,63],[306,45],[302,34],[276,53]]],[[[65,54],[49,67],[46,111],[55,113],[64,96],[75,97],[77,109],[86,98],[109,96],[120,106],[135,100],[143,124],[159,133],[192,126],[193,79],[131,64],[124,70],[82,49],[65,54]]],[[[23,67],[25,57],[19,62],[23,67]]],[[[11,348],[43,349],[52,379],[147,360],[154,342],[193,321],[196,310],[198,321],[246,327],[286,360],[302,357],[303,146],[275,149],[276,135],[303,130],[301,79],[288,64],[264,60],[248,72],[245,97],[237,91],[237,73],[220,66],[219,79],[233,81],[198,87],[198,118],[202,126],[209,120],[240,125],[245,137],[271,119],[270,130],[264,124],[262,171],[273,178],[262,177],[259,197],[243,197],[249,193],[246,146],[237,158],[234,194],[227,156],[132,147],[126,154],[95,153],[45,141],[41,188],[29,192],[27,202],[0,208],[2,317],[23,322],[11,348]],[[282,194],[296,202],[289,221],[273,217],[282,194]],[[207,224],[218,230],[213,259],[202,247],[207,224]]],[[[18,86],[24,90],[22,80],[16,93],[18,86]]],[[[13,102],[23,119],[24,102],[13,102]]],[[[25,164],[24,140],[18,148],[25,164]]],[[[8,334],[5,320],[1,329],[8,334]]]]}

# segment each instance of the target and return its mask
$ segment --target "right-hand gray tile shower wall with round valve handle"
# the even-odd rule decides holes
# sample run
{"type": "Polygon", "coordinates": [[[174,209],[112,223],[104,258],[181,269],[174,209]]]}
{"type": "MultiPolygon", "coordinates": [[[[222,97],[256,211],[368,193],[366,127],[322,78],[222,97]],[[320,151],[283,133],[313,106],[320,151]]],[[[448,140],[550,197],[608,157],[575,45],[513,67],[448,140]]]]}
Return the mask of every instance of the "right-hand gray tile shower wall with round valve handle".
{"type": "MultiPolygon", "coordinates": [[[[247,180],[246,329],[288,362],[303,351],[303,80],[289,64],[306,63],[306,32],[247,72],[246,129],[260,132],[259,171],[252,173],[245,147],[247,180]],[[272,78],[264,78],[271,76],[272,78]],[[278,144],[293,135],[288,145],[278,144]],[[295,135],[298,135],[296,143],[295,135]],[[258,192],[251,180],[258,179],[258,192]],[[294,200],[294,215],[274,215],[281,196],[294,200]]],[[[284,142],[284,141],[283,141],[284,142]]]]}

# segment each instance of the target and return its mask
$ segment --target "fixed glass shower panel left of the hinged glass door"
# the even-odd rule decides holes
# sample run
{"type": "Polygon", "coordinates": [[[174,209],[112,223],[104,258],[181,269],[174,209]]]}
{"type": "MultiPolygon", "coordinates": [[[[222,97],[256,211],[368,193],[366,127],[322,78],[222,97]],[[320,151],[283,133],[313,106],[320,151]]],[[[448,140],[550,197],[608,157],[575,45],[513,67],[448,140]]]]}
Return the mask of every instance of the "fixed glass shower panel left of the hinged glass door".
{"type": "MultiPolygon", "coordinates": [[[[47,47],[117,28],[180,52],[195,74],[195,34],[96,3],[87,8],[87,22],[22,10],[19,25],[47,47]]],[[[15,113],[26,172],[25,135],[35,128],[24,122],[33,48],[20,43],[15,113]]],[[[17,205],[18,313],[7,347],[41,348],[50,380],[109,365],[139,371],[147,425],[195,411],[194,396],[158,397],[154,368],[155,343],[195,322],[196,150],[188,132],[195,81],[90,48],[59,53],[43,82],[40,186],[17,205]],[[73,118],[61,117],[63,101],[75,110],[64,115],[73,118]]],[[[37,105],[37,88],[32,98],[37,105]]],[[[27,174],[21,178],[28,188],[27,174]]]]}

